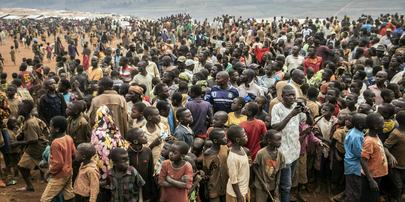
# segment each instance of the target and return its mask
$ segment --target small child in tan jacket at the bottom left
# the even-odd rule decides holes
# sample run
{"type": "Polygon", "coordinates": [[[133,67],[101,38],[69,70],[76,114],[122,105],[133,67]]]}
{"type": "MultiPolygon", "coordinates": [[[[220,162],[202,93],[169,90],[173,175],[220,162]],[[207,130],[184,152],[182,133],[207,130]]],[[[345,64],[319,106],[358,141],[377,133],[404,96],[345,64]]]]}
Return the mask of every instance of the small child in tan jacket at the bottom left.
{"type": "Polygon", "coordinates": [[[81,143],[77,147],[76,161],[81,163],[79,174],[75,180],[73,190],[83,198],[83,202],[95,202],[99,191],[98,171],[96,162],[92,157],[96,148],[90,143],[81,143]]]}

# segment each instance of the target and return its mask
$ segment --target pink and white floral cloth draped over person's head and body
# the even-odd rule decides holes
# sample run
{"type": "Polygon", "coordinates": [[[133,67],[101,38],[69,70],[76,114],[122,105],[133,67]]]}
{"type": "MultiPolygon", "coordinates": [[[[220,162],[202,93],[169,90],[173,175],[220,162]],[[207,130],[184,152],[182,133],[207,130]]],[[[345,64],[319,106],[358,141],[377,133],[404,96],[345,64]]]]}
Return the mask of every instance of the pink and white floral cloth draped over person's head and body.
{"type": "Polygon", "coordinates": [[[100,171],[100,180],[107,178],[107,171],[113,167],[110,158],[111,150],[116,147],[128,149],[128,142],[121,137],[118,127],[114,124],[110,109],[102,106],[96,112],[96,124],[93,127],[91,143],[96,147],[93,159],[100,171]]]}

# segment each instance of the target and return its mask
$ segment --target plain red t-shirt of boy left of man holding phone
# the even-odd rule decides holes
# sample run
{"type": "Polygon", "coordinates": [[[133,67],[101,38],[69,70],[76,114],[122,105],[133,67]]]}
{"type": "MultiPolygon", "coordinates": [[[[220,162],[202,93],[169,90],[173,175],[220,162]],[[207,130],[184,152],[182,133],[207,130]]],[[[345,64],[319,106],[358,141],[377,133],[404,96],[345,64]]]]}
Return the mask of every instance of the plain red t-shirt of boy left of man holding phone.
{"type": "Polygon", "coordinates": [[[244,128],[247,134],[247,143],[244,146],[250,150],[250,155],[254,161],[260,150],[260,135],[264,135],[267,132],[266,125],[263,121],[257,119],[244,121],[239,125],[244,128]]]}

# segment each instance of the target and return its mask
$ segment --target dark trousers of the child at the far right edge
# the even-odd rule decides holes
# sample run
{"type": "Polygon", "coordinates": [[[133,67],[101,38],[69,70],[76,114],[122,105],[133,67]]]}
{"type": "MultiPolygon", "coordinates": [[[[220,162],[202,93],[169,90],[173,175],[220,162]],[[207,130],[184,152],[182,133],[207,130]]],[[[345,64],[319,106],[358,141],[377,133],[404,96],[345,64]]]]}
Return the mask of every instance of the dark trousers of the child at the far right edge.
{"type": "Polygon", "coordinates": [[[405,182],[405,169],[388,168],[388,181],[389,197],[397,200],[401,199],[401,192],[405,182]]]}

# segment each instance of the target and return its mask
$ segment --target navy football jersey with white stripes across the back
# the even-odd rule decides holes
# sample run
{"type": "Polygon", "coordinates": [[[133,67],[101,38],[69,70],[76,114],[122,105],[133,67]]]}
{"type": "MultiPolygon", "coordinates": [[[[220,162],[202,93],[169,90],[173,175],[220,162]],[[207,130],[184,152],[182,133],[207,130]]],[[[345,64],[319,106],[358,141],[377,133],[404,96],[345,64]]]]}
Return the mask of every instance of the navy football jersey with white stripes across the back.
{"type": "Polygon", "coordinates": [[[232,100],[239,97],[239,91],[235,87],[231,86],[229,89],[223,90],[218,86],[211,88],[210,103],[214,108],[214,113],[217,111],[225,111],[227,113],[232,112],[231,104],[232,100]]]}

